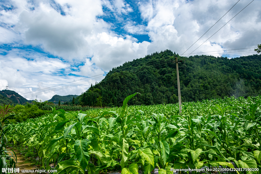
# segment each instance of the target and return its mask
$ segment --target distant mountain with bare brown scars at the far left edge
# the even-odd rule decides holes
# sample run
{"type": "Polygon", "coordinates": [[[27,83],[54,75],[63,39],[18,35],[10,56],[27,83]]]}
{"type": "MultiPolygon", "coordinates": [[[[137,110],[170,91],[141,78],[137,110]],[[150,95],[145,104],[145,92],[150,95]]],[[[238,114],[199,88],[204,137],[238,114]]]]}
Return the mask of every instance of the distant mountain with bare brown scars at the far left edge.
{"type": "MultiPolygon", "coordinates": [[[[25,98],[23,98],[21,95],[19,95],[17,92],[15,91],[11,91],[11,90],[2,90],[0,91],[0,94],[5,97],[5,98],[8,98],[9,100],[3,98],[3,100],[6,100],[6,101],[12,101],[11,104],[25,104],[26,102],[31,102],[32,100],[27,100],[25,98]]],[[[1,101],[0,101],[1,103],[1,101]]],[[[10,102],[9,102],[10,103],[10,102]]]]}

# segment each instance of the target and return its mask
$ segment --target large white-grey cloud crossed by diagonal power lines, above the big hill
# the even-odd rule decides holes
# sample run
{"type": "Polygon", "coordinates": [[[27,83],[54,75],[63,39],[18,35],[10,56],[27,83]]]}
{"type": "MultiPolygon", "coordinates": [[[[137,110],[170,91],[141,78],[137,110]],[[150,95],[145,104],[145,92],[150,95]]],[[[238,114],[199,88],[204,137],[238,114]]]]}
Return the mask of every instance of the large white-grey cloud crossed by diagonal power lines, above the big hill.
{"type": "MultiPolygon", "coordinates": [[[[148,47],[148,53],[165,49],[170,49],[180,54],[185,52],[236,2],[226,0],[198,0],[192,2],[159,0],[140,3],[141,16],[143,16],[145,21],[148,21],[146,29],[149,30],[150,40],[152,40],[148,47]]],[[[200,46],[248,3],[239,2],[235,5],[226,16],[186,53],[190,53],[200,46]]],[[[250,4],[195,52],[252,47],[256,45],[254,43],[260,42],[257,40],[261,36],[261,23],[257,22],[259,11],[261,10],[257,4],[260,1],[255,3],[250,4]]]]}

